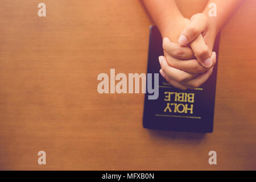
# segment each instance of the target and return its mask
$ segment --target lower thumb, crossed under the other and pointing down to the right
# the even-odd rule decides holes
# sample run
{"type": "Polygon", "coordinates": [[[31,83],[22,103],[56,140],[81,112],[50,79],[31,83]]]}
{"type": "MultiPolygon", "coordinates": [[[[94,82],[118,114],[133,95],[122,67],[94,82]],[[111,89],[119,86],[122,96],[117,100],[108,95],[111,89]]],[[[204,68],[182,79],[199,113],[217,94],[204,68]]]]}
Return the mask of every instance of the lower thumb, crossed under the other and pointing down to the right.
{"type": "Polygon", "coordinates": [[[196,59],[203,65],[203,67],[212,67],[213,61],[210,59],[211,53],[201,34],[190,44],[190,46],[196,59]]]}

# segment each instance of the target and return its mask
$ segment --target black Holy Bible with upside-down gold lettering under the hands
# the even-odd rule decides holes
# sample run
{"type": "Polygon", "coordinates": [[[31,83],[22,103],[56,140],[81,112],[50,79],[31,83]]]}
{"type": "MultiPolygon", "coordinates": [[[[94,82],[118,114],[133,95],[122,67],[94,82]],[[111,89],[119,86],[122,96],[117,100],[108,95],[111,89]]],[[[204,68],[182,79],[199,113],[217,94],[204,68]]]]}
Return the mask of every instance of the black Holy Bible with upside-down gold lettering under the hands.
{"type": "MultiPolygon", "coordinates": [[[[218,60],[220,35],[213,51],[218,60]]],[[[158,57],[163,56],[162,36],[156,26],[150,27],[147,73],[159,73],[158,57]]],[[[195,133],[212,133],[214,101],[217,78],[217,63],[208,80],[196,89],[174,88],[159,74],[159,97],[144,99],[143,127],[154,130],[171,130],[195,133]]]]}

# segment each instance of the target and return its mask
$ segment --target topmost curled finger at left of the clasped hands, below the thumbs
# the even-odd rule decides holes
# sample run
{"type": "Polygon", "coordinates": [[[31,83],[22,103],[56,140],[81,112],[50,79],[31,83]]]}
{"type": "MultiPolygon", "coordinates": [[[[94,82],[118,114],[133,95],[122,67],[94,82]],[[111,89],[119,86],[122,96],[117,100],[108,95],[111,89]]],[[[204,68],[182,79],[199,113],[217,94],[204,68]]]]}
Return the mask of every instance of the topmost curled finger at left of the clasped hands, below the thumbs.
{"type": "Polygon", "coordinates": [[[164,38],[163,39],[163,49],[177,59],[193,59],[194,53],[190,47],[181,46],[180,44],[176,44],[171,42],[170,39],[164,38]]]}

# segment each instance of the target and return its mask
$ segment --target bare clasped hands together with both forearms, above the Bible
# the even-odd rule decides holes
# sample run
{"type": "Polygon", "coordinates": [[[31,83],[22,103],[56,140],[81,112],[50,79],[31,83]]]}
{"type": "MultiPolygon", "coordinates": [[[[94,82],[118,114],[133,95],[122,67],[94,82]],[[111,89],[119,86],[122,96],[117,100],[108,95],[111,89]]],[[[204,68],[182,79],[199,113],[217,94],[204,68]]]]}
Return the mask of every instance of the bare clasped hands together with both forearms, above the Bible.
{"type": "Polygon", "coordinates": [[[171,85],[197,88],[207,81],[216,63],[216,53],[212,52],[216,35],[242,1],[210,0],[208,5],[217,5],[217,17],[209,17],[207,5],[203,13],[189,20],[181,15],[174,0],[143,0],[164,38],[160,74],[171,85]]]}

